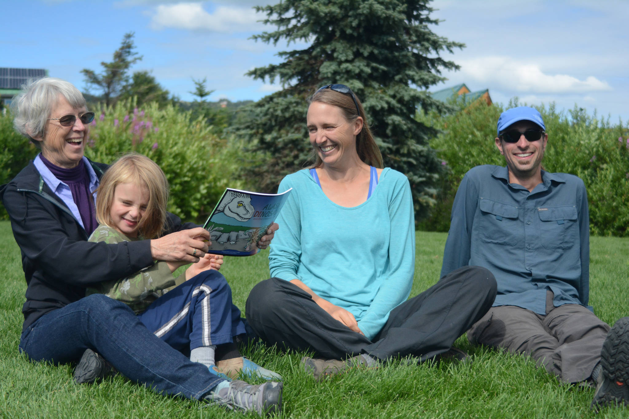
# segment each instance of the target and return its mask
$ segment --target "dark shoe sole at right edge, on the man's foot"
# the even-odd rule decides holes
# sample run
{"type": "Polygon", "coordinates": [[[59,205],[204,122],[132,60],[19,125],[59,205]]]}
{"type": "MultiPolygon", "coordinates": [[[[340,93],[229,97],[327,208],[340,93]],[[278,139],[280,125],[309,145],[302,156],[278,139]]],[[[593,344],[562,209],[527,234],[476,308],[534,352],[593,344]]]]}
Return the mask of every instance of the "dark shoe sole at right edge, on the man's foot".
{"type": "Polygon", "coordinates": [[[601,373],[591,408],[629,405],[629,317],[613,325],[601,349],[601,373]]]}

